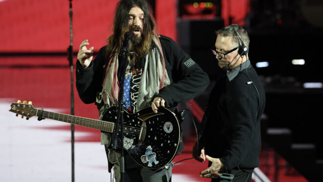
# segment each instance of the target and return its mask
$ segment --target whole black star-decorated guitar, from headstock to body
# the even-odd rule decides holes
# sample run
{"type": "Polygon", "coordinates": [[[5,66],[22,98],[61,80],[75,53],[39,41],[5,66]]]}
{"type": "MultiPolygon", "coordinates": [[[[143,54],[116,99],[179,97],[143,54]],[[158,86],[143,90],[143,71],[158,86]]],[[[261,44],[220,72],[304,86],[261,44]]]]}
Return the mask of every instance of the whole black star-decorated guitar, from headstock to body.
{"type": "MultiPolygon", "coordinates": [[[[115,132],[116,130],[117,112],[115,106],[105,111],[102,120],[37,109],[31,102],[26,104],[25,101],[12,103],[9,111],[16,113],[16,116],[22,115],[22,118],[26,117],[27,120],[30,117],[38,116],[39,120],[48,118],[107,132],[115,132]]],[[[174,158],[180,140],[180,125],[170,110],[161,107],[155,114],[151,107],[146,107],[133,114],[126,110],[123,113],[123,148],[139,165],[156,169],[166,165],[174,158]]],[[[121,148],[119,132],[117,135],[115,138],[115,135],[112,134],[112,141],[116,139],[116,148],[121,148]]]]}

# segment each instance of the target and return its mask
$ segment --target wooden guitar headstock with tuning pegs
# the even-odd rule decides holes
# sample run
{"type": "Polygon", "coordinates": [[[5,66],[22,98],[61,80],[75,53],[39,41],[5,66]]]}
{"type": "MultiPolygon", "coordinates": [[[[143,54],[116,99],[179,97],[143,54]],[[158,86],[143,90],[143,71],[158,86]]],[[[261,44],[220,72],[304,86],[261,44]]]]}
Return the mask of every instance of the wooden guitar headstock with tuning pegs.
{"type": "Polygon", "coordinates": [[[33,106],[31,101],[29,101],[27,104],[27,101],[23,101],[22,103],[20,100],[18,100],[17,103],[11,104],[9,111],[16,113],[16,116],[21,115],[22,118],[25,116],[26,120],[33,116],[37,116],[37,108],[33,106]]]}

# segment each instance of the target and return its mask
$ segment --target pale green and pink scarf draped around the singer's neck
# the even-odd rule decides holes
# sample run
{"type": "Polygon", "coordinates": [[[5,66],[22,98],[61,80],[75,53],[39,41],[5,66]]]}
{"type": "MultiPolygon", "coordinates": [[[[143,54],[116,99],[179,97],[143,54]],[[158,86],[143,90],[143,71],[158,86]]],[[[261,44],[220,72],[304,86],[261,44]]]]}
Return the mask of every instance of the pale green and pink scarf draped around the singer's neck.
{"type": "MultiPolygon", "coordinates": [[[[165,60],[161,50],[161,43],[157,36],[153,37],[153,42],[157,45],[144,57],[144,67],[140,78],[138,88],[138,100],[136,111],[150,106],[152,97],[159,93],[159,90],[170,84],[166,69],[165,60]]],[[[102,100],[105,108],[115,104],[115,99],[118,99],[119,80],[118,72],[118,54],[114,54],[109,60],[106,75],[103,80],[102,100]]],[[[125,74],[125,73],[123,73],[125,74]]],[[[102,113],[102,112],[100,112],[102,113]]]]}

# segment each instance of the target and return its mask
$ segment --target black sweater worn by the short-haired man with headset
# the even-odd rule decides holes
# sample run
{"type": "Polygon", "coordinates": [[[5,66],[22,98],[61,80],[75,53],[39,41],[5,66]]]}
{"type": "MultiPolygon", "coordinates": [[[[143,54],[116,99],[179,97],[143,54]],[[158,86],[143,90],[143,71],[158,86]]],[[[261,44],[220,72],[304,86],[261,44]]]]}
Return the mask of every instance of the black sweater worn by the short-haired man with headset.
{"type": "Polygon", "coordinates": [[[259,166],[265,92],[254,68],[247,69],[231,81],[226,75],[217,81],[201,124],[206,154],[220,158],[226,170],[259,166]]]}

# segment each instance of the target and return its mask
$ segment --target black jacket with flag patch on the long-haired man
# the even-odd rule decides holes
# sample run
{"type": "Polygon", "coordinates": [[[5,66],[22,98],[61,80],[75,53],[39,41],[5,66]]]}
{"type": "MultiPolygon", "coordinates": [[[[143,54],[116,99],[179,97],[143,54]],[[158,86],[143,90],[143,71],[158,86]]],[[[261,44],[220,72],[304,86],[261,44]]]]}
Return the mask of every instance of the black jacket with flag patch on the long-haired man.
{"type": "MultiPolygon", "coordinates": [[[[174,111],[178,103],[202,94],[208,86],[209,78],[171,38],[161,35],[160,41],[171,84],[162,88],[157,96],[162,97],[166,107],[174,111]]],[[[102,91],[105,74],[103,65],[106,63],[106,47],[99,50],[88,68],[83,68],[77,61],[76,88],[85,104],[94,103],[97,92],[102,91]]]]}

